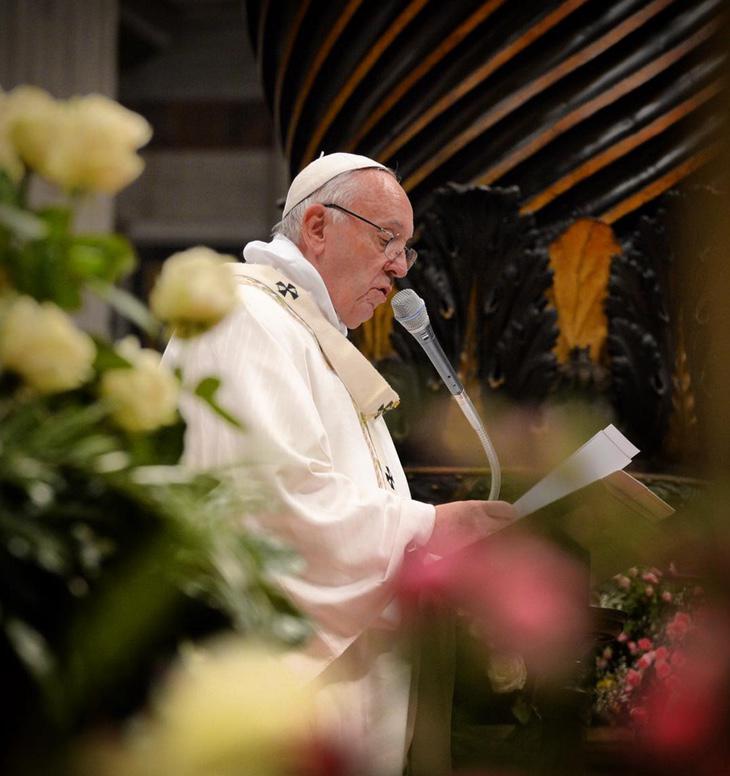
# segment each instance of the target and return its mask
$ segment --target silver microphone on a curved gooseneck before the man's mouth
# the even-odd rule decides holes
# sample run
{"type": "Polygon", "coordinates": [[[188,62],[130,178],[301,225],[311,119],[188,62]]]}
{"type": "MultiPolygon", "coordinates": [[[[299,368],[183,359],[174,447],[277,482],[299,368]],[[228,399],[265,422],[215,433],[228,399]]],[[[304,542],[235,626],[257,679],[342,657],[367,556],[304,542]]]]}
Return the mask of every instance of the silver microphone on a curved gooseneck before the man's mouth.
{"type": "Polygon", "coordinates": [[[443,348],[436,339],[436,335],[433,333],[431,321],[426,311],[426,303],[412,288],[404,288],[395,294],[390,304],[393,308],[395,319],[406,331],[415,337],[416,342],[423,348],[451,395],[456,399],[456,403],[464,413],[464,417],[466,417],[469,425],[479,437],[492,473],[489,500],[493,501],[499,497],[499,489],[502,484],[502,470],[497,459],[497,453],[492,445],[492,440],[487,434],[487,430],[484,428],[474,405],[471,403],[471,399],[461,384],[461,380],[459,380],[443,348]]]}

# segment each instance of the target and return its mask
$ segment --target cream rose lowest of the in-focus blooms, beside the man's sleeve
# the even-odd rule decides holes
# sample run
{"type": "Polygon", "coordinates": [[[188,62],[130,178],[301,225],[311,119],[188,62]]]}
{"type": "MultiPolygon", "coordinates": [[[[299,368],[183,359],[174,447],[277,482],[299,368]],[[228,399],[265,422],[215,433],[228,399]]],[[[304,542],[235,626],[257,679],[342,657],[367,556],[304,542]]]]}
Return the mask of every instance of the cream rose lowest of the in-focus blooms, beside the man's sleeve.
{"type": "Polygon", "coordinates": [[[114,421],[127,431],[153,431],[174,423],[180,387],[160,363],[160,354],[140,348],[134,337],[122,340],[117,350],[131,366],[107,370],[100,384],[114,421]]]}

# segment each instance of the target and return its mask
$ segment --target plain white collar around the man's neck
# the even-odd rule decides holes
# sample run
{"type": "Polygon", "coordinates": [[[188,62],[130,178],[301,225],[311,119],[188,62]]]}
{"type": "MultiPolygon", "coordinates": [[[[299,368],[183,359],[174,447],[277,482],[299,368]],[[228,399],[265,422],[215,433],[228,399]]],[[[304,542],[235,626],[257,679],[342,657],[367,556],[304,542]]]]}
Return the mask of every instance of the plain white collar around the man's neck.
{"type": "Polygon", "coordinates": [[[274,267],[300,285],[312,295],[325,318],[347,336],[347,326],[337,315],[322,276],[288,237],[277,234],[270,242],[254,240],[243,249],[243,258],[247,264],[274,267]]]}

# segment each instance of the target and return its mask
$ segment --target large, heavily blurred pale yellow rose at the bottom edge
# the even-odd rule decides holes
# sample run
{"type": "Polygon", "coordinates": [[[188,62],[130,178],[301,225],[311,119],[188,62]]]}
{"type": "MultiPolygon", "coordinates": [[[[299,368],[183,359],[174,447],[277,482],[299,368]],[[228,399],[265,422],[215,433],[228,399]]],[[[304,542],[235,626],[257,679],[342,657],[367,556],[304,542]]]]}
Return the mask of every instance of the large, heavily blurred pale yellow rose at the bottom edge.
{"type": "Polygon", "coordinates": [[[236,639],[181,666],[156,711],[156,772],[268,776],[288,773],[311,735],[313,690],[276,653],[236,639]]]}

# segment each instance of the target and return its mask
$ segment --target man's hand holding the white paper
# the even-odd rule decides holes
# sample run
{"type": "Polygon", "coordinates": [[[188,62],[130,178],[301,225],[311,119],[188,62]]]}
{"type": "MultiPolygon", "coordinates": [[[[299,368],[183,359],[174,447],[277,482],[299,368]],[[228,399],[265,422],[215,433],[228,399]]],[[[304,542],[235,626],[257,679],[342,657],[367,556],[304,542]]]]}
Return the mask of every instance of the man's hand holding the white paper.
{"type": "Polygon", "coordinates": [[[454,552],[505,528],[517,519],[506,501],[451,501],[436,507],[429,545],[434,552],[454,552]]]}

